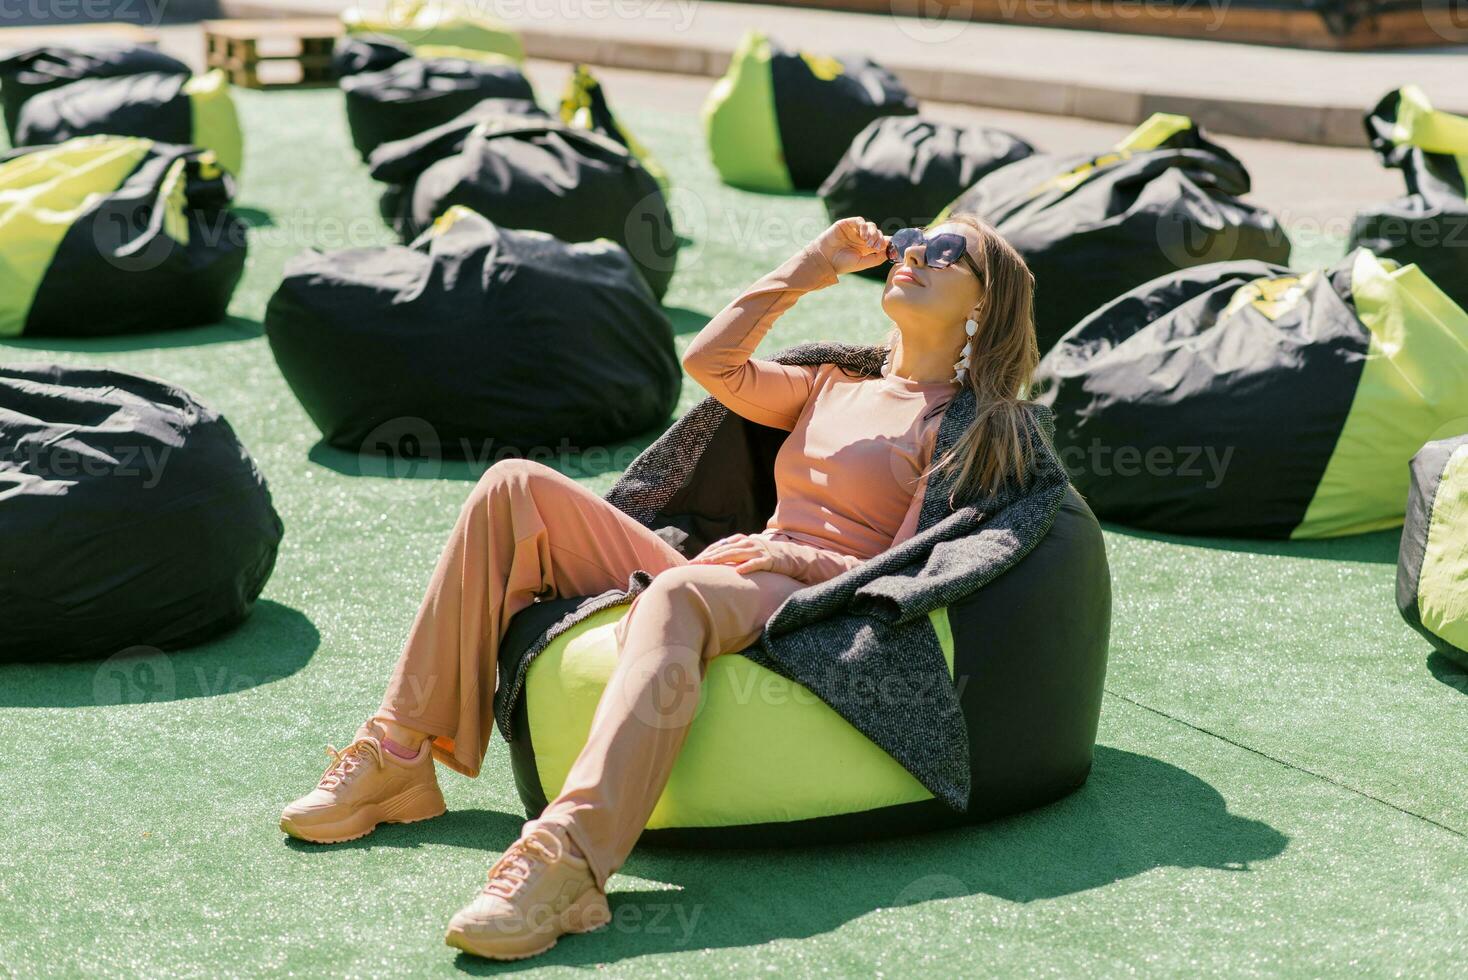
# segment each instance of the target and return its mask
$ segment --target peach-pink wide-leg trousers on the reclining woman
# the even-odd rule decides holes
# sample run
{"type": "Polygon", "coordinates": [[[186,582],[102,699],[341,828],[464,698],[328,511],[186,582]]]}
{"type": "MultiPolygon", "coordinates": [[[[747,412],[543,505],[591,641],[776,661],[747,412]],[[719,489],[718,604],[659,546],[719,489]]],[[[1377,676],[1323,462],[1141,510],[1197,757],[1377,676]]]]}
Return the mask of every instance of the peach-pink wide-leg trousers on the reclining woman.
{"type": "Polygon", "coordinates": [[[464,503],[377,712],[432,736],[437,761],[477,776],[509,618],[536,594],[625,587],[637,568],[652,584],[617,625],[617,668],[586,747],[539,817],[567,829],[603,889],[662,795],[708,662],[753,643],[799,579],[693,565],[575,480],[504,459],[464,503]]]}

